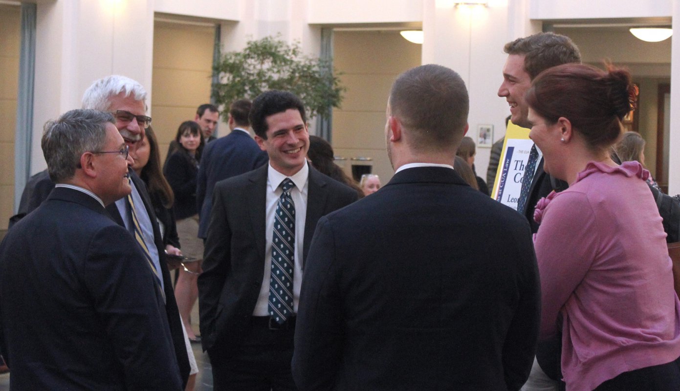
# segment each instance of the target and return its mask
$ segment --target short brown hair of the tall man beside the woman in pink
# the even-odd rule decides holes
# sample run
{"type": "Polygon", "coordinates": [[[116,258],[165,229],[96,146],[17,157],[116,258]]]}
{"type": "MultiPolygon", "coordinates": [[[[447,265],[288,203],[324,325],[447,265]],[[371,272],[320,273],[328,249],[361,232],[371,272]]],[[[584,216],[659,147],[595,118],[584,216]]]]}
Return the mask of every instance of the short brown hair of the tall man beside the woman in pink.
{"type": "Polygon", "coordinates": [[[569,37],[556,33],[536,33],[517,38],[505,44],[503,51],[524,55],[524,70],[532,80],[550,67],[581,63],[579,48],[569,37]]]}

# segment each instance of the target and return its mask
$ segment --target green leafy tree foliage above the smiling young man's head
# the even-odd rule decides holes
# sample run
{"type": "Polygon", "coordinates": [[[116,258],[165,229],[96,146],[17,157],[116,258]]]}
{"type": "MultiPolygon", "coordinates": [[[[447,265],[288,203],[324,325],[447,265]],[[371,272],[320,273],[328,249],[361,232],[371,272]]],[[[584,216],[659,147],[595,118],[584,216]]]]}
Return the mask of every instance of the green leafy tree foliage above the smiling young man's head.
{"type": "Polygon", "coordinates": [[[305,103],[307,118],[327,115],[330,107],[340,107],[345,88],[333,73],[333,64],[302,53],[298,42],[288,44],[276,37],[248,41],[241,52],[222,54],[215,65],[219,83],[213,97],[224,105],[237,99],[254,99],[267,90],[288,90],[305,103]]]}

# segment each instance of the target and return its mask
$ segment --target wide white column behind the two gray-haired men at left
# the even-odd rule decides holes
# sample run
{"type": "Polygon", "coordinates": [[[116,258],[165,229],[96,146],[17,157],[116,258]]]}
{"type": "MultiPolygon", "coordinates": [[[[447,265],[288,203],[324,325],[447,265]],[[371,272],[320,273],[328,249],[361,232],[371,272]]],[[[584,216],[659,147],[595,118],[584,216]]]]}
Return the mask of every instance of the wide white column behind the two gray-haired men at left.
{"type": "Polygon", "coordinates": [[[121,74],[151,93],[153,3],[57,0],[37,5],[32,173],[46,167],[40,148],[45,122],[80,108],[92,82],[121,74]]]}

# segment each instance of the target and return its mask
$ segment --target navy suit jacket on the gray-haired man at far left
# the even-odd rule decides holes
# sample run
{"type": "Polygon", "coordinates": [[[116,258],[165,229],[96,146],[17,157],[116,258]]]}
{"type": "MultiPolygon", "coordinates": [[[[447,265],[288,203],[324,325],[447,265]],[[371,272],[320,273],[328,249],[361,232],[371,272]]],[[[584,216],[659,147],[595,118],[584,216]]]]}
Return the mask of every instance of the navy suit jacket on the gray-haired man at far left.
{"type": "Polygon", "coordinates": [[[181,390],[163,296],[97,200],[56,188],[0,245],[12,390],[181,390]]]}

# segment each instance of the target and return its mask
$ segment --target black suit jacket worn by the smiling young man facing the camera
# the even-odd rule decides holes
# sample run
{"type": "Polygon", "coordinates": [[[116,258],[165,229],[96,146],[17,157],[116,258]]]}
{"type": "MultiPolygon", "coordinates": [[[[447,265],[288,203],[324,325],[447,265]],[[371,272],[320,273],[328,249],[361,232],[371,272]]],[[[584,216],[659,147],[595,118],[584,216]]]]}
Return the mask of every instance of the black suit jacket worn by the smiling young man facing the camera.
{"type": "MultiPolygon", "coordinates": [[[[250,327],[265,273],[268,167],[221,181],[215,187],[203,273],[199,275],[203,350],[216,341],[236,347],[250,327]]],[[[311,165],[307,186],[303,267],[319,218],[357,199],[355,190],[311,165]]]]}

